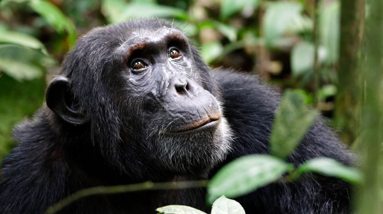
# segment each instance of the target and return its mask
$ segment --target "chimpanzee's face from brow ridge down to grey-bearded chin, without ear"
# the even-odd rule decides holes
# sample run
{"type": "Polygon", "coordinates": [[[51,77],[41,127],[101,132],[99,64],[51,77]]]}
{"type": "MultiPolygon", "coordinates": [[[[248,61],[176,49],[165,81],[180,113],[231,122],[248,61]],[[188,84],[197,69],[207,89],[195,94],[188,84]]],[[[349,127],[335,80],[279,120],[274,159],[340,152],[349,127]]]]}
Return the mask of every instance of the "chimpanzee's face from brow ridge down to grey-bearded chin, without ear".
{"type": "Polygon", "coordinates": [[[146,142],[147,153],[162,167],[181,174],[208,171],[230,144],[219,102],[202,87],[191,46],[180,31],[143,31],[133,32],[136,36],[114,57],[121,84],[116,97],[130,112],[125,124],[140,127],[139,137],[145,139],[137,141],[146,142]]]}

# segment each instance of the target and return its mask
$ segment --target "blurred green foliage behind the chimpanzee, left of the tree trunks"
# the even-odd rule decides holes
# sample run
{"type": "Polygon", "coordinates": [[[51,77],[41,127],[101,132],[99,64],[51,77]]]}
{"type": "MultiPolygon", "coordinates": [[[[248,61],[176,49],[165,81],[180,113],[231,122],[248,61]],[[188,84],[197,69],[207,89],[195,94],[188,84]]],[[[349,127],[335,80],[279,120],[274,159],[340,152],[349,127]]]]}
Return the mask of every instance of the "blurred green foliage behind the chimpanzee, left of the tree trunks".
{"type": "MultiPolygon", "coordinates": [[[[256,73],[281,90],[299,88],[307,103],[334,117],[338,0],[2,0],[0,159],[14,146],[12,127],[42,105],[47,82],[60,72],[76,38],[93,27],[141,16],[177,23],[211,67],[256,73]]],[[[333,127],[352,143],[346,127],[333,127]]]]}

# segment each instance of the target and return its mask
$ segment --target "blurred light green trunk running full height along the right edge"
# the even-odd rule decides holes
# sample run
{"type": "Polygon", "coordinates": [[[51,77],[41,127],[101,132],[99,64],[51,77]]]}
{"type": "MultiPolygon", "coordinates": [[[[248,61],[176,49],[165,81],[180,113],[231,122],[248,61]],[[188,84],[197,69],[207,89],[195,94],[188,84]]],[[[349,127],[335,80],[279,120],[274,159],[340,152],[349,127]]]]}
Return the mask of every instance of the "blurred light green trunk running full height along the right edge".
{"type": "Polygon", "coordinates": [[[362,169],[364,185],[358,195],[361,214],[382,214],[383,143],[383,0],[367,0],[362,78],[362,169]]]}

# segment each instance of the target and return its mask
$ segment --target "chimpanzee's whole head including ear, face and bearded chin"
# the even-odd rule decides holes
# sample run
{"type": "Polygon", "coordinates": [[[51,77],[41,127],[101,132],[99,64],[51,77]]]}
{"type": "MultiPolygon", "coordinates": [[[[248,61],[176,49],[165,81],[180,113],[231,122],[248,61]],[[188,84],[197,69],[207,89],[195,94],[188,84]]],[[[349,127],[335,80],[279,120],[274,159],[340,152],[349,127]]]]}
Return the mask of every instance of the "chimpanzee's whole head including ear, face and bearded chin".
{"type": "Polygon", "coordinates": [[[137,176],[153,167],[200,174],[230,148],[209,68],[180,30],[157,19],[81,37],[49,85],[47,105],[65,127],[88,130],[81,137],[110,164],[130,173],[135,164],[137,176]]]}

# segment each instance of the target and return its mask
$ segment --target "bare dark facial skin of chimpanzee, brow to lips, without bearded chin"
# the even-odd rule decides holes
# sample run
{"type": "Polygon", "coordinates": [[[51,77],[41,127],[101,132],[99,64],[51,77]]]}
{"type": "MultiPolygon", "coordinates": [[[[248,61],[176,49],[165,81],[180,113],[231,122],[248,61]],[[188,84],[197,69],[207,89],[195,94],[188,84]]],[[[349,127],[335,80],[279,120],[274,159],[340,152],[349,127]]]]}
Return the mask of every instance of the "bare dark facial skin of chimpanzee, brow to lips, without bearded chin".
{"type": "Polygon", "coordinates": [[[199,82],[188,40],[174,29],[132,37],[118,49],[127,90],[142,99],[147,118],[161,118],[162,135],[216,130],[217,100],[199,82]]]}

